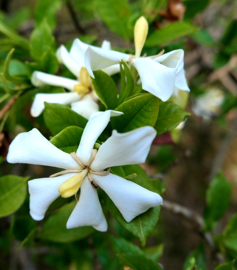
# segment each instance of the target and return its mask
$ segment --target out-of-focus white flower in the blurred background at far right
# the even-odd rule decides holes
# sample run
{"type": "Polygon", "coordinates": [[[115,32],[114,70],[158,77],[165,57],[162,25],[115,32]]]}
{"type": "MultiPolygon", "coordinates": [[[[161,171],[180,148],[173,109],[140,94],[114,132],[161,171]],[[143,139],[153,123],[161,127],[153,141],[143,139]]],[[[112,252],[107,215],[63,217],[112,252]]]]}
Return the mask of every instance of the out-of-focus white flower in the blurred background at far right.
{"type": "Polygon", "coordinates": [[[224,93],[218,88],[212,88],[196,99],[192,106],[193,113],[208,121],[212,116],[219,114],[223,100],[224,93]]]}

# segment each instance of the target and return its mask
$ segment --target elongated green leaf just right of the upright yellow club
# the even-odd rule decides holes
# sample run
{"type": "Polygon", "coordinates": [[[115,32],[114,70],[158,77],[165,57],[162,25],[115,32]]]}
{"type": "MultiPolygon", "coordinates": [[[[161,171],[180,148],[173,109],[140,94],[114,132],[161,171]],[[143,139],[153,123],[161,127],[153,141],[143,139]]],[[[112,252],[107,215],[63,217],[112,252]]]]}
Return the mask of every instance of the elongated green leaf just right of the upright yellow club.
{"type": "Polygon", "coordinates": [[[196,30],[197,28],[193,24],[186,21],[174,22],[151,33],[144,46],[153,47],[170,43],[178,38],[192,34],[196,30]]]}

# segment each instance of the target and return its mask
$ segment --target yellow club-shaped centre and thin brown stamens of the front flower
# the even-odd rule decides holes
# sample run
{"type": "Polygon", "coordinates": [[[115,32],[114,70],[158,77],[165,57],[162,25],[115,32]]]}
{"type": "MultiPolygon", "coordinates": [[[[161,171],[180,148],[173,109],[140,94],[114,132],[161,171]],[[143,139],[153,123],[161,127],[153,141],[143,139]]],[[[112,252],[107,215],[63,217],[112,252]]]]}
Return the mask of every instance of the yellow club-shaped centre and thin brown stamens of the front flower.
{"type": "Polygon", "coordinates": [[[69,170],[64,170],[62,172],[57,172],[53,175],[50,175],[50,177],[55,177],[55,176],[59,176],[59,175],[67,174],[67,173],[78,172],[78,174],[70,177],[65,182],[63,182],[63,184],[61,184],[60,187],[58,188],[58,192],[61,194],[63,198],[71,197],[74,194],[76,195],[77,191],[79,190],[82,184],[83,179],[86,176],[88,177],[88,180],[90,181],[93,188],[96,188],[96,189],[99,188],[99,186],[96,185],[96,183],[94,182],[94,179],[92,178],[92,174],[97,174],[101,176],[108,175],[110,168],[108,168],[107,171],[103,171],[103,172],[94,171],[93,169],[90,168],[91,163],[95,159],[96,153],[97,153],[97,150],[93,149],[91,156],[88,160],[88,163],[87,165],[85,165],[80,160],[80,158],[76,155],[76,153],[72,152],[70,155],[80,165],[81,169],[69,169],[69,170]]]}

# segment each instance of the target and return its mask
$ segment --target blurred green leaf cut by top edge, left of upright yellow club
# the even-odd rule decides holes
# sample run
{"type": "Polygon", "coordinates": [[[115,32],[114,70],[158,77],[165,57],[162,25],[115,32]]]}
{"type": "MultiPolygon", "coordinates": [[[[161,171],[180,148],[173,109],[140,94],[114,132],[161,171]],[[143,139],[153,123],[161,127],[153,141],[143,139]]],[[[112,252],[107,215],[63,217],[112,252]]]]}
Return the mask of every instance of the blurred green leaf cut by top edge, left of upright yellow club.
{"type": "Polygon", "coordinates": [[[131,10],[127,0],[96,0],[95,4],[99,17],[111,31],[125,39],[133,37],[131,10]]]}

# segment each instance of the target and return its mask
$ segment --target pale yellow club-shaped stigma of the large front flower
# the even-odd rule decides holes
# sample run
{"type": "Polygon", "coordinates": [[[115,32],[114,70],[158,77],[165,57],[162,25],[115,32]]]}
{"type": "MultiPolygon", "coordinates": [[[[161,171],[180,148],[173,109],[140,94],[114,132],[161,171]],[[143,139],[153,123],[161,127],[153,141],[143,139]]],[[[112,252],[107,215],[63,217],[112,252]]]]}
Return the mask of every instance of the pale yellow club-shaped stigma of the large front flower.
{"type": "Polygon", "coordinates": [[[63,184],[58,188],[58,192],[61,194],[61,196],[63,198],[68,198],[76,194],[88,171],[89,169],[86,168],[82,172],[79,172],[78,174],[67,179],[67,181],[63,182],[63,184]]]}

